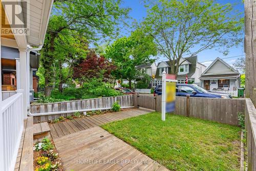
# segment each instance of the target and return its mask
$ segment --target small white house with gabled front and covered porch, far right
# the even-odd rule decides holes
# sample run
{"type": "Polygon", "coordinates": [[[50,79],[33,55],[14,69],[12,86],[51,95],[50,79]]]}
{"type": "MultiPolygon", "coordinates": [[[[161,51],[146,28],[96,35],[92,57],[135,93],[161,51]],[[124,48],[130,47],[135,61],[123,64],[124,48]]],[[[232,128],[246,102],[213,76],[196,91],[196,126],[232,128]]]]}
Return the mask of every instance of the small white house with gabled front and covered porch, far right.
{"type": "Polygon", "coordinates": [[[237,91],[240,73],[221,58],[216,58],[202,73],[201,87],[210,91],[237,91]]]}

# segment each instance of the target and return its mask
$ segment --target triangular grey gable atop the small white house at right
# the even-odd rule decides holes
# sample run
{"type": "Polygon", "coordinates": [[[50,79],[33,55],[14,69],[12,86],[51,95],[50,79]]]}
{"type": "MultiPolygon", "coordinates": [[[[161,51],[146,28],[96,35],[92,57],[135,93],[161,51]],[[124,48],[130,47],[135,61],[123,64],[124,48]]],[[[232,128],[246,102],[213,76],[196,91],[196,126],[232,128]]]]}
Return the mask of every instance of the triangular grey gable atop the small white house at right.
{"type": "MultiPolygon", "coordinates": [[[[219,65],[221,64],[219,63],[219,65]]],[[[201,76],[206,76],[206,75],[224,75],[224,74],[240,74],[237,70],[235,70],[233,67],[231,67],[230,65],[228,65],[227,62],[225,62],[224,60],[222,60],[221,58],[217,57],[207,68],[206,70],[202,73],[201,76]],[[214,67],[217,62],[221,62],[222,66],[226,67],[226,70],[222,70],[221,68],[218,68],[218,70],[216,70],[215,73],[207,73],[209,72],[210,69],[212,69],[212,67],[214,67]]]]}

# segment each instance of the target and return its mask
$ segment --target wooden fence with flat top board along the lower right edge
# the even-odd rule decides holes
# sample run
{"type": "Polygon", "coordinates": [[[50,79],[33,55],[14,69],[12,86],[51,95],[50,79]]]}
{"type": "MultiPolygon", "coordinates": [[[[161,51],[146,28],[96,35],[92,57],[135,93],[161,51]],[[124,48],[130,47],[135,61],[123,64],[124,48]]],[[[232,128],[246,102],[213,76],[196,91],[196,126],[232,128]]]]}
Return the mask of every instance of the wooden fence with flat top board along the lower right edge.
{"type": "Polygon", "coordinates": [[[256,170],[256,109],[250,98],[245,104],[245,129],[248,152],[248,170],[256,170]]]}

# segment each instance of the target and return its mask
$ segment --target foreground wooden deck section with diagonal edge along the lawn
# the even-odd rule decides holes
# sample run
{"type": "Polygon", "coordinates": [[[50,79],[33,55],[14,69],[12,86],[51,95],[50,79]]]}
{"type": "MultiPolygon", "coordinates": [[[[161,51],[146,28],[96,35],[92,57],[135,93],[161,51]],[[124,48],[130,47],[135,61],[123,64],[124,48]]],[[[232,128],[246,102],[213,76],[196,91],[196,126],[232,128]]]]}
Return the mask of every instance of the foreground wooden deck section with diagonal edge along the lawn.
{"type": "Polygon", "coordinates": [[[99,126],[54,143],[65,170],[168,170],[99,126]]]}

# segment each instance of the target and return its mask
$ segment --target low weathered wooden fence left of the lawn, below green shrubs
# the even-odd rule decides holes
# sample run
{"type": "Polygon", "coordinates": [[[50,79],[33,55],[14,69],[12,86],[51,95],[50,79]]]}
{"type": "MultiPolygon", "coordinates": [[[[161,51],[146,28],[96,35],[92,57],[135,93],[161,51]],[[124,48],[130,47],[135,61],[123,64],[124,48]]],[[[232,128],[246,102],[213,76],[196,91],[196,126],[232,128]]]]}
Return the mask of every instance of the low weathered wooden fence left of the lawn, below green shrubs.
{"type": "Polygon", "coordinates": [[[111,108],[113,103],[118,101],[121,107],[134,106],[135,95],[124,95],[116,97],[103,97],[94,99],[74,100],[74,101],[63,101],[55,103],[45,104],[32,104],[30,105],[31,114],[38,114],[34,116],[34,123],[46,122],[59,118],[60,116],[67,117],[74,113],[61,113],[61,114],[50,114],[40,115],[49,112],[61,112],[61,111],[74,111],[83,109],[100,109],[100,108],[111,108]]]}

